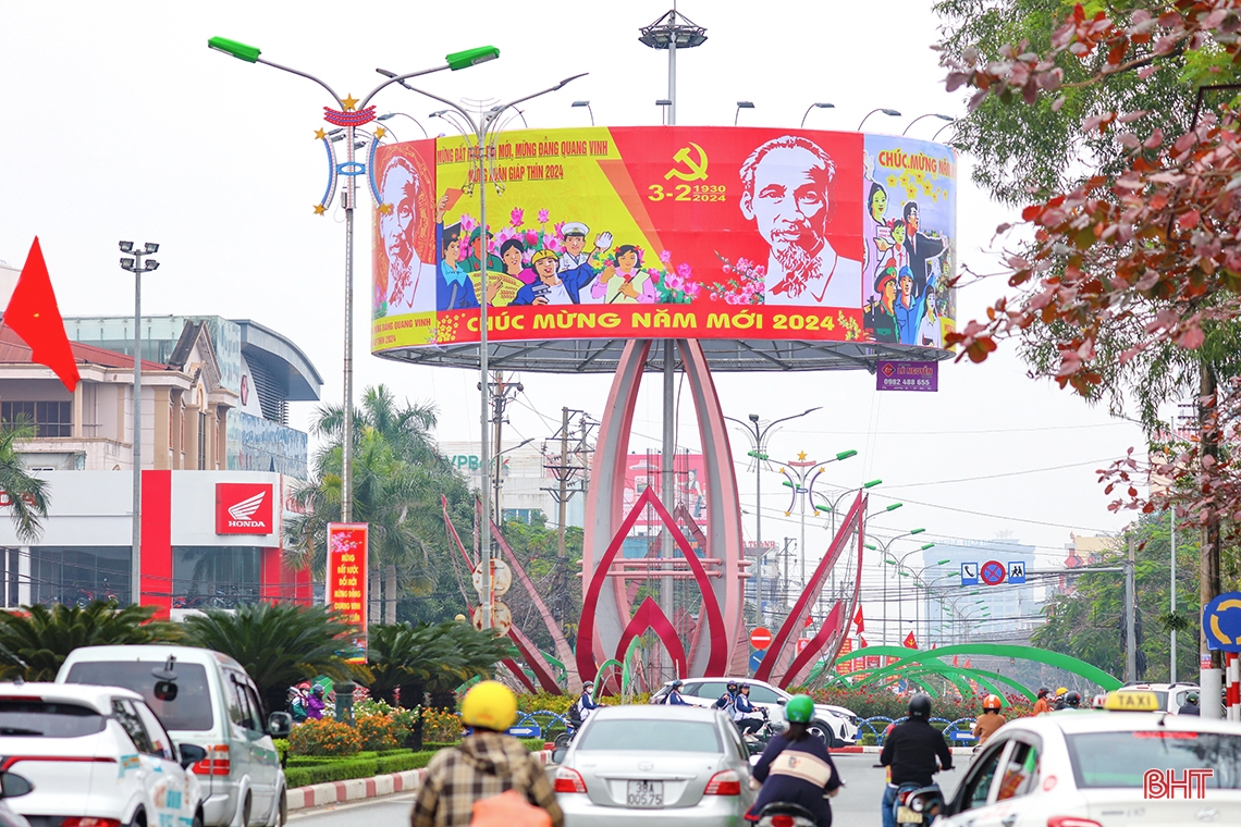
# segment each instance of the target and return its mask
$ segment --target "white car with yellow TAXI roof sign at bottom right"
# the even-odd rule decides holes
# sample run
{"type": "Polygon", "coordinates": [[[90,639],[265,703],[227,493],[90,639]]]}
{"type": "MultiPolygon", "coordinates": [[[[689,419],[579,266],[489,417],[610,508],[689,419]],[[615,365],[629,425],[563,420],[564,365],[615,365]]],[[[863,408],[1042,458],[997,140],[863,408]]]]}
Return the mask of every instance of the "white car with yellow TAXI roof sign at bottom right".
{"type": "Polygon", "coordinates": [[[1066,709],[1004,724],[936,827],[1241,825],[1241,725],[1138,714],[1158,709],[1155,696],[1119,694],[1128,697],[1113,693],[1109,705],[1132,712],[1066,709]]]}

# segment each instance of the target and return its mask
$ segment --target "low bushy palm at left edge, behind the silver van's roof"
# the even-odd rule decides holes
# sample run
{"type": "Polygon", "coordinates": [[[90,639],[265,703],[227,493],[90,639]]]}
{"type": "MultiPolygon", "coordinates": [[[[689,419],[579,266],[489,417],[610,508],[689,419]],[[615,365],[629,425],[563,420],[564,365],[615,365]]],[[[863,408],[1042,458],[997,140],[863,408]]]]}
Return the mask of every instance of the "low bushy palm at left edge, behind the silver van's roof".
{"type": "Polygon", "coordinates": [[[112,600],[0,611],[0,678],[55,681],[65,658],[79,646],[180,641],[181,627],[153,621],[154,614],[154,606],[118,609],[112,600]]]}

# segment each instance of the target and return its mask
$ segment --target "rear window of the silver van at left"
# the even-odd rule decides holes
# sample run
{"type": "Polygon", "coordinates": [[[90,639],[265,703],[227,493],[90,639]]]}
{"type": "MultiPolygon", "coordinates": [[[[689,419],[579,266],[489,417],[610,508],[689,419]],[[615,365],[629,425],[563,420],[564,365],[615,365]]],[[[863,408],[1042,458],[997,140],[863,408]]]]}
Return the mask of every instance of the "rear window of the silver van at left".
{"type": "Polygon", "coordinates": [[[124,687],[143,696],[165,729],[174,732],[211,729],[215,715],[211,712],[207,671],[201,663],[177,663],[176,698],[160,701],[155,697],[155,676],[151,674],[151,670],[163,666],[164,661],[84,661],[69,668],[66,683],[124,687]]]}

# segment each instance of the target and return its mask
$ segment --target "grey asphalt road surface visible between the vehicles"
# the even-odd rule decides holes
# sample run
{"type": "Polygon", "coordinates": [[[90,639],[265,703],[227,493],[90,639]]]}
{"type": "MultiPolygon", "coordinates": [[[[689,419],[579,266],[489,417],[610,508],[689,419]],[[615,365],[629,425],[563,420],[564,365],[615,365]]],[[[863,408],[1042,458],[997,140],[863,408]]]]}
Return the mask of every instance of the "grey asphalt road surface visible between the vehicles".
{"type": "MultiPolygon", "coordinates": [[[[884,770],[875,769],[877,755],[833,755],[845,789],[831,800],[836,825],[879,827],[879,803],[884,797],[884,770]]],[[[968,761],[962,761],[967,764],[968,761]]],[[[946,794],[957,789],[961,770],[937,776],[946,794]]],[[[365,820],[366,827],[408,827],[413,794],[403,792],[369,801],[331,805],[318,810],[289,813],[290,827],[352,827],[365,820]]],[[[673,822],[669,822],[673,823],[673,822]]]]}

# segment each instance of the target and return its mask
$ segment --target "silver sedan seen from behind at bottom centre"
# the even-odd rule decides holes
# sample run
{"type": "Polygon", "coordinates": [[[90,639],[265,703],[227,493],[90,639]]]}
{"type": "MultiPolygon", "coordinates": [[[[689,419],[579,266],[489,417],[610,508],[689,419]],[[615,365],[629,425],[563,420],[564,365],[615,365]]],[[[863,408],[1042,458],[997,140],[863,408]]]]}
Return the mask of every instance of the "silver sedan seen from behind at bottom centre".
{"type": "Polygon", "coordinates": [[[603,707],[557,758],[566,827],[735,827],[755,802],[746,746],[717,709],[603,707]]]}

